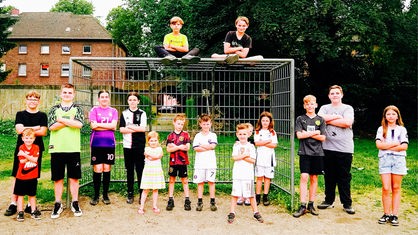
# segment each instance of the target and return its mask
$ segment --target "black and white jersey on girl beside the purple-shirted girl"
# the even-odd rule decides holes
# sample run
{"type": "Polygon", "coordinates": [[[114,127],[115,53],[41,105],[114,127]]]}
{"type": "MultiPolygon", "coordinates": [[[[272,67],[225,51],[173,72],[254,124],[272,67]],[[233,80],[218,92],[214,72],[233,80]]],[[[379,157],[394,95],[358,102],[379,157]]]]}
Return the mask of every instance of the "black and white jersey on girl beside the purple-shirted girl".
{"type": "MultiPolygon", "coordinates": [[[[147,114],[141,109],[131,111],[126,109],[120,116],[119,126],[126,127],[128,125],[137,125],[147,127],[147,114]]],[[[145,133],[134,132],[130,134],[123,134],[124,148],[144,148],[145,147],[145,133]]]]}

